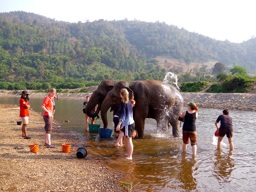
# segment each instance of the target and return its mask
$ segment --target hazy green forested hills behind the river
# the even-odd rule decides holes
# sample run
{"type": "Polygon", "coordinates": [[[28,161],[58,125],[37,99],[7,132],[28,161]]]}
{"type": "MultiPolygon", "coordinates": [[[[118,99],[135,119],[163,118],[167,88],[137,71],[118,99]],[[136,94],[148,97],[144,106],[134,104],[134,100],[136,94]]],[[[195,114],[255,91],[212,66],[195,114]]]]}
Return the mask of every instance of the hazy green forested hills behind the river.
{"type": "Polygon", "coordinates": [[[0,13],[0,81],[162,80],[167,68],[158,56],[199,68],[213,60],[256,74],[256,38],[237,44],[160,22],[70,23],[0,13]]]}

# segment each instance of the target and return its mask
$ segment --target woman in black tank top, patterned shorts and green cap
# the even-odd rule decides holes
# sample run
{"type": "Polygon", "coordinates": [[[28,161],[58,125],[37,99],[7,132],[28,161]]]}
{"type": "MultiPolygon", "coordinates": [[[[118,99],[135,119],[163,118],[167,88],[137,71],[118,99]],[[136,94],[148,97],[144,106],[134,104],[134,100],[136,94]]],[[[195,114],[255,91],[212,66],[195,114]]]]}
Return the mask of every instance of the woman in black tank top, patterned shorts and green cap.
{"type": "Polygon", "coordinates": [[[190,139],[193,155],[196,155],[196,119],[198,117],[198,107],[193,102],[188,103],[187,106],[188,110],[180,114],[180,118],[184,117],[184,124],[182,127],[182,151],[186,152],[188,140],[190,139]]]}

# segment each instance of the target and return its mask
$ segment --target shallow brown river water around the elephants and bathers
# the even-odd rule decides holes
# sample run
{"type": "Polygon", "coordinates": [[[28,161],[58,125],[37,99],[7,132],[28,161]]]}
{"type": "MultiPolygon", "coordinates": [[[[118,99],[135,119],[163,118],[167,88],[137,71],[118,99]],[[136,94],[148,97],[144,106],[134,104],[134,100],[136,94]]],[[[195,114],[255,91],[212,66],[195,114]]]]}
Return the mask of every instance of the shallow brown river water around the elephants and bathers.
{"type": "MultiPolygon", "coordinates": [[[[19,99],[19,96],[0,98],[0,104],[19,105],[19,99]]],[[[42,101],[31,98],[31,108],[43,112],[40,108],[42,101]]],[[[230,110],[234,126],[234,151],[230,152],[226,137],[221,150],[216,149],[214,122],[222,110],[200,108],[196,121],[196,157],[192,156],[190,144],[187,153],[182,153],[182,138],[173,138],[171,130],[157,132],[156,121],[146,119],[145,138],[133,140],[131,161],[123,159],[125,146],[114,146],[117,133],[113,132],[110,138],[100,138],[98,133],[85,132],[82,104],[82,100],[57,100],[54,120],[69,120],[62,123],[62,129],[82,134],[88,154],[104,159],[111,168],[126,172],[127,176],[122,181],[137,184],[136,192],[249,192],[256,189],[255,112],[230,110]]],[[[109,112],[108,127],[113,129],[112,118],[113,114],[109,112]]],[[[103,127],[101,118],[96,120],[96,124],[103,127]]]]}

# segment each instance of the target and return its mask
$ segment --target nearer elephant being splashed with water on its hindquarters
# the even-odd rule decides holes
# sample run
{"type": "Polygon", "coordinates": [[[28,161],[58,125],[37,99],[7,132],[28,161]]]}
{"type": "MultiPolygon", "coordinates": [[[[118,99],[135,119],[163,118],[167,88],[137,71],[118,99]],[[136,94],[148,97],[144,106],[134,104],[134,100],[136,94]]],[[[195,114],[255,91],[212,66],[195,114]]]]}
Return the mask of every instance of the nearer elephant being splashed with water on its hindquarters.
{"type": "Polygon", "coordinates": [[[117,82],[101,105],[100,114],[104,128],[108,126],[108,109],[111,107],[110,111],[115,114],[120,108],[120,90],[122,88],[126,88],[129,92],[129,98],[134,96],[136,101],[133,114],[138,138],[144,138],[146,118],[156,120],[157,130],[167,130],[168,123],[170,123],[173,136],[180,136],[177,117],[183,109],[183,98],[176,88],[157,80],[117,82]]]}

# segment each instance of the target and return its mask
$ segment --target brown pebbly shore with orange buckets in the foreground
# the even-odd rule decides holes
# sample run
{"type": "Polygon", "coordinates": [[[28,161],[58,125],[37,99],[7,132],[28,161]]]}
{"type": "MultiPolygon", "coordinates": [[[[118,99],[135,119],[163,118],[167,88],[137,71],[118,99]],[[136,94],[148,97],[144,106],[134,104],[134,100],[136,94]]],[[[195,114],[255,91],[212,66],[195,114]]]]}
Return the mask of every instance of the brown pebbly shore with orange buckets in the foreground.
{"type": "MultiPolygon", "coordinates": [[[[44,121],[30,110],[28,135],[21,137],[19,107],[0,105],[0,191],[15,192],[121,192],[117,180],[125,174],[106,166],[100,158],[88,154],[78,159],[76,152],[83,138],[55,126],[52,143],[44,146],[44,121]],[[30,144],[40,144],[38,152],[30,152],[30,144]],[[72,144],[69,153],[62,152],[62,144],[72,144]]],[[[128,181],[126,181],[128,182],[128,181]]]]}

